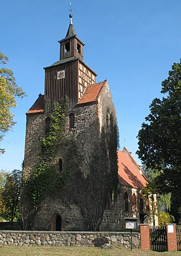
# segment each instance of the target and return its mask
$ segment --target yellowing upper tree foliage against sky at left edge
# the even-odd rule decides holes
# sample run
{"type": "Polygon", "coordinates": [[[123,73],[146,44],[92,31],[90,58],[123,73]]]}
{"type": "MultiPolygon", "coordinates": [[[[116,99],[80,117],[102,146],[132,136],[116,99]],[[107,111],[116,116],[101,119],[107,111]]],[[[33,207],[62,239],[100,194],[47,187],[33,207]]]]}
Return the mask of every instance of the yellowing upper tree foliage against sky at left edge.
{"type": "MultiPolygon", "coordinates": [[[[25,92],[16,84],[14,73],[11,69],[6,69],[5,65],[8,57],[0,52],[0,142],[7,131],[15,124],[14,115],[10,111],[16,107],[16,98],[23,98],[25,92]]],[[[0,153],[4,150],[0,149],[0,153]]]]}

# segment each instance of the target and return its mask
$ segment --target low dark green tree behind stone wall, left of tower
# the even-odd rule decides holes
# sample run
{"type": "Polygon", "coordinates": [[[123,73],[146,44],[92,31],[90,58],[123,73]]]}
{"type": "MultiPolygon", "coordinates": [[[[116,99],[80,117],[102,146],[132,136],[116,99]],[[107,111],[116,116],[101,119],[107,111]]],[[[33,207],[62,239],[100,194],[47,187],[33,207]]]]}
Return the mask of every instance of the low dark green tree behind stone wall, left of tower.
{"type": "Polygon", "coordinates": [[[21,191],[21,171],[3,173],[3,183],[0,188],[0,217],[13,222],[19,218],[19,199],[21,191]]]}

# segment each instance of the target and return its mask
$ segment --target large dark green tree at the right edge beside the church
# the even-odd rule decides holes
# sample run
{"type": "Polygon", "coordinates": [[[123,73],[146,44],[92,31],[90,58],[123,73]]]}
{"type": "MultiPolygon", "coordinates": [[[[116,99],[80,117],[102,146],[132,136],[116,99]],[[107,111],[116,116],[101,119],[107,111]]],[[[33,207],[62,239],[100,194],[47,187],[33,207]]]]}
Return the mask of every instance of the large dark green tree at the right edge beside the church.
{"type": "Polygon", "coordinates": [[[160,193],[181,195],[181,61],[162,81],[162,99],[155,98],[138,133],[138,156],[153,169],[160,193]]]}

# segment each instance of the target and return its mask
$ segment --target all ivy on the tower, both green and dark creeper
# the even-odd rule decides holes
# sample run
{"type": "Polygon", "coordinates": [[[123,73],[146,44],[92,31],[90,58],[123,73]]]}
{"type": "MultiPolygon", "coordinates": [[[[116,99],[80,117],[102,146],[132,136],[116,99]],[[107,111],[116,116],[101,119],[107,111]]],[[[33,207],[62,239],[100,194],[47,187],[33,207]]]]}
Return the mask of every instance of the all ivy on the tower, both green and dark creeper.
{"type": "Polygon", "coordinates": [[[110,114],[110,128],[104,125],[101,133],[97,133],[96,107],[88,110],[85,118],[95,114],[90,118],[90,125],[83,130],[77,127],[72,133],[68,129],[65,131],[66,104],[54,108],[50,132],[42,140],[39,161],[26,182],[29,196],[24,196],[26,202],[22,214],[25,229],[34,228],[35,216],[36,222],[39,220],[36,213],[41,216],[53,214],[53,206],[61,202],[66,209],[70,204],[78,206],[85,230],[96,231],[100,228],[105,209],[114,204],[118,189],[116,121],[110,114]],[[61,156],[63,171],[59,172],[58,157],[61,156]],[[32,206],[27,203],[27,198],[32,206]]]}

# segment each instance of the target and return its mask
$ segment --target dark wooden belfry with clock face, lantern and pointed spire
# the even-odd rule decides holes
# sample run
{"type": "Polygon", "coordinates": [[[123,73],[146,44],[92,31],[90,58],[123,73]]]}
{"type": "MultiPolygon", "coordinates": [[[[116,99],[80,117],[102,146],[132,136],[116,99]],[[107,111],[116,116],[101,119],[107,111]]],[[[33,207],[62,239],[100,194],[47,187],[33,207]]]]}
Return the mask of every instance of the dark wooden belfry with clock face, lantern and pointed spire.
{"type": "Polygon", "coordinates": [[[76,36],[72,23],[60,43],[59,61],[45,67],[45,102],[50,105],[67,99],[69,107],[75,107],[87,85],[96,82],[96,73],[83,62],[84,43],[76,36]]]}

